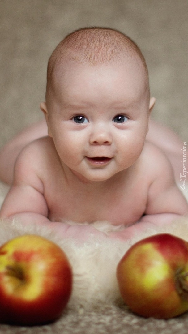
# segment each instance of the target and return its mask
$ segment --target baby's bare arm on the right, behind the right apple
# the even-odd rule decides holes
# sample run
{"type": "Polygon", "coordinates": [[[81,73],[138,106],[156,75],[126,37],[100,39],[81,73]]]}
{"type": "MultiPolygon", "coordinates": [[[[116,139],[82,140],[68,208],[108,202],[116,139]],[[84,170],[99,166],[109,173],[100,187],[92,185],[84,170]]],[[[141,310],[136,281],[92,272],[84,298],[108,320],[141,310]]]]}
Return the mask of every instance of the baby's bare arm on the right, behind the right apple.
{"type": "Polygon", "coordinates": [[[153,154],[149,157],[148,179],[151,182],[145,213],[135,224],[120,232],[110,233],[111,237],[132,238],[135,234],[155,229],[156,225],[170,224],[181,215],[188,214],[187,201],[175,184],[173,169],[166,155],[153,147],[153,154]]]}

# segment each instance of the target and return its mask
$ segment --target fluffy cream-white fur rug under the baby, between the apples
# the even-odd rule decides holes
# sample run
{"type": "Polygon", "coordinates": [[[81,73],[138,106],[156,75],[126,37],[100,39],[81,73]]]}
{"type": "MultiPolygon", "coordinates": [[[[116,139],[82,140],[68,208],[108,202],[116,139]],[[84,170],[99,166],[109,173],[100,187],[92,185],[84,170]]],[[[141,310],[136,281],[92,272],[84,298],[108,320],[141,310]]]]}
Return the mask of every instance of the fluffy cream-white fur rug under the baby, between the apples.
{"type": "MultiPolygon", "coordinates": [[[[8,187],[0,184],[2,202],[8,187]]],[[[1,203],[0,203],[1,205],[1,203]]],[[[101,228],[108,229],[108,222],[101,228]]],[[[171,225],[148,229],[127,242],[107,239],[96,240],[92,237],[82,246],[75,245],[73,240],[60,239],[49,228],[35,225],[23,226],[18,221],[7,223],[0,221],[0,245],[7,240],[26,233],[39,234],[56,242],[66,253],[73,269],[73,291],[68,308],[82,312],[93,310],[102,304],[111,304],[120,297],[116,280],[116,267],[127,249],[144,237],[157,233],[171,233],[188,241],[188,217],[182,217],[171,225]]]]}

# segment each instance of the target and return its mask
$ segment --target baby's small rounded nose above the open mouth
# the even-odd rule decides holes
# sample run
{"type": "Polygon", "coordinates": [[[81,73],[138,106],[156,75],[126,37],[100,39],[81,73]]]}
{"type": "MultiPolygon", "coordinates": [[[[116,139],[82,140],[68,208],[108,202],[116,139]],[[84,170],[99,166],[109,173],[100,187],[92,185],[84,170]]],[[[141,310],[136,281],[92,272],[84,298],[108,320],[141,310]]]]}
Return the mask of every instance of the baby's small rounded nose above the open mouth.
{"type": "Polygon", "coordinates": [[[91,145],[110,145],[112,144],[112,135],[104,126],[96,128],[90,135],[89,143],[91,145]]]}

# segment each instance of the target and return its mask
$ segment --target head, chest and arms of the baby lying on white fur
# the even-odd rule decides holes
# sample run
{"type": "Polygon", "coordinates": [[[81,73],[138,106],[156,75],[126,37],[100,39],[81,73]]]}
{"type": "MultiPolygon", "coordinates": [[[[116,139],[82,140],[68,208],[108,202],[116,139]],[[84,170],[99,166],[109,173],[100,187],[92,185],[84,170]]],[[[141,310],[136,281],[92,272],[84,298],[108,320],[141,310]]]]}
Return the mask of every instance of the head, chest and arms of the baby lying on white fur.
{"type": "Polygon", "coordinates": [[[145,59],[129,37],[98,27],[66,36],[49,58],[40,105],[48,136],[19,148],[0,217],[84,241],[107,237],[95,221],[123,227],[108,235],[126,240],[187,213],[167,156],[146,140],[154,103],[145,59]]]}

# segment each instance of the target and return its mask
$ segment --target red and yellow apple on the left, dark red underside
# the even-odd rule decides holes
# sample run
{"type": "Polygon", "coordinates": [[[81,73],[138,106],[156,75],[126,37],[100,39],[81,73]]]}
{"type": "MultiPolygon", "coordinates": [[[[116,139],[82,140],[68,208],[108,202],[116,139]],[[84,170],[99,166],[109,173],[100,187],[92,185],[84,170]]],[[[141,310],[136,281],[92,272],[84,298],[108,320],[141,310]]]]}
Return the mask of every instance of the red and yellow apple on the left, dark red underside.
{"type": "Polygon", "coordinates": [[[22,235],[0,247],[0,322],[41,325],[56,320],[72,288],[62,249],[39,235],[22,235]]]}

